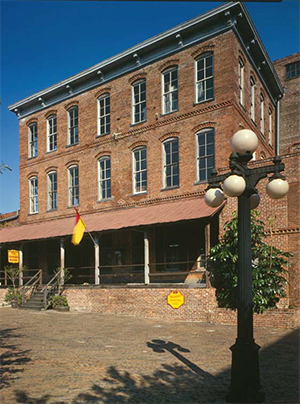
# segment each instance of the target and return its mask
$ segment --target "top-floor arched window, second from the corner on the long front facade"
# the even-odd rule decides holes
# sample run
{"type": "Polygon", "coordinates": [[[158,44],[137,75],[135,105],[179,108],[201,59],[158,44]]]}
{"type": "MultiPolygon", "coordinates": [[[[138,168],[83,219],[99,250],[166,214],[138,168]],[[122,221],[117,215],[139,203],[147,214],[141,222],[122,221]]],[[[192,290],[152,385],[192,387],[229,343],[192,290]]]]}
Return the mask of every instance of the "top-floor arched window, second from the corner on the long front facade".
{"type": "Polygon", "coordinates": [[[162,113],[178,110],[178,68],[173,66],[162,73],[162,113]]]}

